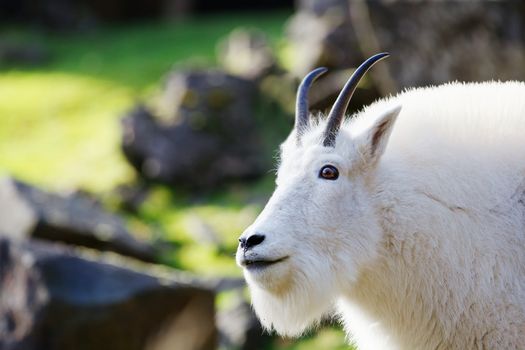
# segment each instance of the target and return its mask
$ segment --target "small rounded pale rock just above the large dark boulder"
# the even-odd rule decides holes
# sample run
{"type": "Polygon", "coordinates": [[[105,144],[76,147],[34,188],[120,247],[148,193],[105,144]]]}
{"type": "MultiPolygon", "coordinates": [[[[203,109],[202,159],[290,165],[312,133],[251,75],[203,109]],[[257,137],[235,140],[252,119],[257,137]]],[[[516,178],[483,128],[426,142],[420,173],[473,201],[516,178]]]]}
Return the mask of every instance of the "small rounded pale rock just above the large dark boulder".
{"type": "Polygon", "coordinates": [[[266,34],[260,30],[236,29],[219,45],[219,63],[230,74],[260,80],[276,69],[266,34]]]}

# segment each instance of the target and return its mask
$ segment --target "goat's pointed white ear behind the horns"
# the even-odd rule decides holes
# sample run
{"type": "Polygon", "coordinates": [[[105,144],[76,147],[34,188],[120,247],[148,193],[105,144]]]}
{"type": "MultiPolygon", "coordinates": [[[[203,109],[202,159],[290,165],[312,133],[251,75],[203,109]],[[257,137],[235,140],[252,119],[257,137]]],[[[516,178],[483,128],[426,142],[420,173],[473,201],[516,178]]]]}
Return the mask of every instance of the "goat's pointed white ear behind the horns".
{"type": "Polygon", "coordinates": [[[359,152],[367,166],[373,166],[383,155],[401,106],[386,110],[371,127],[359,136],[359,152]]]}

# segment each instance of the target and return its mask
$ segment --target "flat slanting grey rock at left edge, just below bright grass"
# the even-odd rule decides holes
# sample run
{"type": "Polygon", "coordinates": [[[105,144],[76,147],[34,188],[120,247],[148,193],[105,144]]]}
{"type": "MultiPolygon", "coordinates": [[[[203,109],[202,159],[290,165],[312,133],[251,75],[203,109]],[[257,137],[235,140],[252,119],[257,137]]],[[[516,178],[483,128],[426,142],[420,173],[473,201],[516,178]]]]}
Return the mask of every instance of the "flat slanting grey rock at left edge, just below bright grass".
{"type": "Polygon", "coordinates": [[[0,232],[155,260],[152,246],[136,240],[119,217],[93,199],[48,193],[10,178],[0,179],[0,232]]]}

